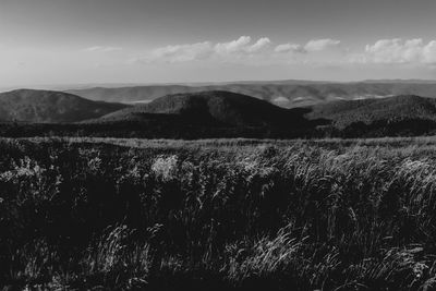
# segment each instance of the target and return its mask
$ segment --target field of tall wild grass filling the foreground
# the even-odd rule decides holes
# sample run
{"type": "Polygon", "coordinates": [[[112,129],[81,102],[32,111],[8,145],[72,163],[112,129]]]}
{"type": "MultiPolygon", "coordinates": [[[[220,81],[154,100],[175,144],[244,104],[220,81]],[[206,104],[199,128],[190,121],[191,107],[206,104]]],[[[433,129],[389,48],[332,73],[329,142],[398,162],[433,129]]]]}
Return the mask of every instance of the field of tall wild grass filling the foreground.
{"type": "Polygon", "coordinates": [[[436,138],[0,140],[5,290],[434,290],[436,138]]]}

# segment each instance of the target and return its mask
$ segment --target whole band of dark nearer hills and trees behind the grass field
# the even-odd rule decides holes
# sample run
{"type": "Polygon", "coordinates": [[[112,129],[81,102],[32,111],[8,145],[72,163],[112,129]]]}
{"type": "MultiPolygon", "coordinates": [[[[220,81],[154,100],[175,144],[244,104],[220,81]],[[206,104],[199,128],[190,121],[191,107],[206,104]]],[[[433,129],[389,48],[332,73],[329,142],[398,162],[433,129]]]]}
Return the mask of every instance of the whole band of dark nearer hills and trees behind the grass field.
{"type": "Polygon", "coordinates": [[[292,138],[422,135],[436,134],[436,98],[399,95],[339,99],[287,109],[249,95],[207,90],[171,94],[148,104],[129,106],[92,101],[61,92],[21,89],[0,94],[0,123],[2,136],[292,138]]]}

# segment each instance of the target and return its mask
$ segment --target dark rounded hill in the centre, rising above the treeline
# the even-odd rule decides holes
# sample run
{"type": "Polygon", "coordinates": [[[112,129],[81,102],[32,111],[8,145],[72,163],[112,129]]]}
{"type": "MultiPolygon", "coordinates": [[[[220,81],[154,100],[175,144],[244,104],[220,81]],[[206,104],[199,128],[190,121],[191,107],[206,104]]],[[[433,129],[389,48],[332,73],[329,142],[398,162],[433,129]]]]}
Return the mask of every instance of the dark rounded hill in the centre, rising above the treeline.
{"type": "MultiPolygon", "coordinates": [[[[247,95],[211,90],[167,95],[145,105],[130,107],[99,121],[141,121],[153,116],[177,116],[199,125],[283,125],[298,117],[291,111],[247,95]]],[[[288,125],[290,125],[288,123],[288,125]]]]}

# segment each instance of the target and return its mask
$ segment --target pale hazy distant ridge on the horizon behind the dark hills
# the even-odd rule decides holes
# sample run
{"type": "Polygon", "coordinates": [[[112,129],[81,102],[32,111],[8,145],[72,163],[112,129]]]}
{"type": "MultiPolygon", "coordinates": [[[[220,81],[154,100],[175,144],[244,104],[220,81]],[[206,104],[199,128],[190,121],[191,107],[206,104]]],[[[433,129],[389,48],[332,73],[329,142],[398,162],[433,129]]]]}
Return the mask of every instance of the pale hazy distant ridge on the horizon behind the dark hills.
{"type": "Polygon", "coordinates": [[[425,80],[382,80],[358,83],[316,81],[240,82],[206,85],[149,85],[117,88],[93,87],[68,93],[111,102],[149,102],[170,94],[227,90],[249,95],[283,108],[317,105],[336,100],[384,98],[398,95],[436,97],[436,82],[425,80]]]}

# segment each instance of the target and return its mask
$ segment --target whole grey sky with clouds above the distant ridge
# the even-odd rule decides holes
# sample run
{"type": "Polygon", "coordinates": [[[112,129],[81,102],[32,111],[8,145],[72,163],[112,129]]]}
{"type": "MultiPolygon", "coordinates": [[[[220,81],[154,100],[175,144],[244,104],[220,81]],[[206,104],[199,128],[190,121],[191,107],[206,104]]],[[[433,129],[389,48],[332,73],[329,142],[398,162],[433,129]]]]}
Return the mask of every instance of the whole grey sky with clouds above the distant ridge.
{"type": "Polygon", "coordinates": [[[0,0],[0,87],[436,78],[435,0],[0,0]]]}

